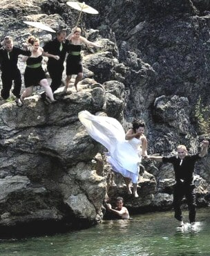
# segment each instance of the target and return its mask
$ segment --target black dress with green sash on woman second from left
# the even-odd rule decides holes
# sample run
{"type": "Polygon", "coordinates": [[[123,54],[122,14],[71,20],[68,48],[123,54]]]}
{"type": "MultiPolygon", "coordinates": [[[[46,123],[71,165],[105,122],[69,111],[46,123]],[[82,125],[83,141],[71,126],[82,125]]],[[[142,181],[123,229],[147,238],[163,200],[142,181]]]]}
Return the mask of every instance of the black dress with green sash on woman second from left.
{"type": "Polygon", "coordinates": [[[42,79],[46,78],[41,66],[42,55],[39,57],[29,57],[26,60],[26,70],[24,73],[25,87],[37,86],[42,79]],[[39,65],[40,64],[40,65],[39,65]]]}

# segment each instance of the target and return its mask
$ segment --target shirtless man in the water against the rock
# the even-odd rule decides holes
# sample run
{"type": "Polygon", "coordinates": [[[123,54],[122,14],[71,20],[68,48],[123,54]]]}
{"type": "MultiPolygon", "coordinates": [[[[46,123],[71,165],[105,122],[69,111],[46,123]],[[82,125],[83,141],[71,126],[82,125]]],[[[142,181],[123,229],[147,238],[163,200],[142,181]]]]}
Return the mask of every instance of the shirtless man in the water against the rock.
{"type": "Polygon", "coordinates": [[[110,203],[106,203],[106,209],[109,212],[115,214],[119,219],[129,219],[130,215],[128,209],[123,206],[124,200],[122,197],[118,196],[116,199],[116,207],[113,209],[110,203]]]}

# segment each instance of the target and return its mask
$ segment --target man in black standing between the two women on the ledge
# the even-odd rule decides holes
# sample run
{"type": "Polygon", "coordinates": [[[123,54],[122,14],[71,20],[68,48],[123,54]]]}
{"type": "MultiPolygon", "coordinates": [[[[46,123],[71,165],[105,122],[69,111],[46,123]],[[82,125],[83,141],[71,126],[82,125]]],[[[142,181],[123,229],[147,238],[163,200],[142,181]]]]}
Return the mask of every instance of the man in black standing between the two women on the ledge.
{"type": "MultiPolygon", "coordinates": [[[[52,80],[50,87],[53,93],[59,88],[59,86],[61,86],[62,83],[64,60],[68,51],[67,45],[68,42],[66,42],[66,30],[59,30],[59,32],[57,32],[57,37],[52,41],[47,42],[43,47],[44,55],[51,54],[59,56],[59,60],[49,58],[47,64],[48,73],[52,80]]],[[[42,97],[44,96],[45,94],[42,94],[42,97]]]]}

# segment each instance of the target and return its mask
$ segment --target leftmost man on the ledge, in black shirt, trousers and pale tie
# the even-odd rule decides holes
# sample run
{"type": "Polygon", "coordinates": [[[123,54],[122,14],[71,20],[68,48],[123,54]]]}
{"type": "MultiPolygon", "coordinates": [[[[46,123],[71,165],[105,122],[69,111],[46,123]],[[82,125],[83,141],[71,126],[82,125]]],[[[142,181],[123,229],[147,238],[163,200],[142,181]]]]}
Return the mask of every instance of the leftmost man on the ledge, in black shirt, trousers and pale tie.
{"type": "Polygon", "coordinates": [[[3,48],[0,49],[0,65],[1,65],[1,80],[2,89],[1,97],[6,100],[10,97],[10,89],[12,88],[12,81],[14,81],[14,89],[12,93],[16,97],[16,104],[18,107],[22,106],[20,100],[21,93],[21,73],[17,67],[19,55],[30,56],[30,51],[21,50],[14,46],[12,37],[5,37],[1,42],[3,48]]]}

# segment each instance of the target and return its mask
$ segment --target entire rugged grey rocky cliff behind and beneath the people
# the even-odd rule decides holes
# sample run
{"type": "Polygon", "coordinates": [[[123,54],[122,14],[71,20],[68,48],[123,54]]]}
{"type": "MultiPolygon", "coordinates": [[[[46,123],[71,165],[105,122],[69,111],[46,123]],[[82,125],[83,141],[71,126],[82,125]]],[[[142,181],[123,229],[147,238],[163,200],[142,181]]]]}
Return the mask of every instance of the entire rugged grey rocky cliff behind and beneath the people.
{"type": "MultiPolygon", "coordinates": [[[[83,15],[81,26],[104,47],[84,49],[79,92],[61,88],[49,106],[39,95],[21,109],[1,102],[1,236],[90,226],[103,218],[106,194],[124,196],[133,212],[171,208],[171,165],[144,161],[140,198],[127,196],[122,178],[106,164],[105,149],[79,123],[79,111],[105,112],[125,129],[133,117],[143,118],[150,154],[167,155],[180,143],[195,153],[209,138],[208,1],[95,0],[93,7],[99,15],[83,15]]],[[[50,37],[24,20],[57,30],[72,28],[78,17],[63,0],[3,0],[0,14],[1,36],[19,45],[30,34],[41,44],[50,37]]],[[[198,205],[209,203],[209,161],[196,165],[198,205]]]]}

